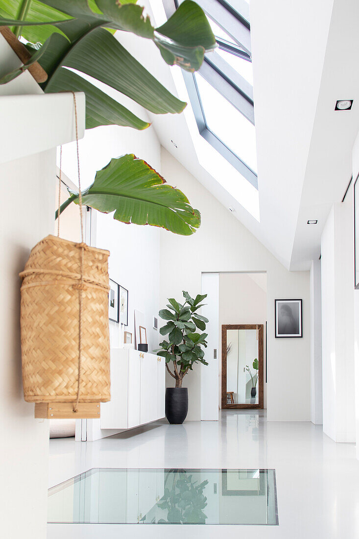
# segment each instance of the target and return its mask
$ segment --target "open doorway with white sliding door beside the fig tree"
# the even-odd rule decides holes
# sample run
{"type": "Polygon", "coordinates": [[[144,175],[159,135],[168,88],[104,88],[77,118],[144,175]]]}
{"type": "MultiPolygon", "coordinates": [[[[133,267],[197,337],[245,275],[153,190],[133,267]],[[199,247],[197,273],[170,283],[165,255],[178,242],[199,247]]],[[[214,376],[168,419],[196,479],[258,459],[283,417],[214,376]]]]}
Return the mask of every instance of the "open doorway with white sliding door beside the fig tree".
{"type": "MultiPolygon", "coordinates": [[[[253,272],[203,272],[202,273],[202,294],[208,294],[206,305],[202,308],[202,314],[209,319],[206,326],[208,333],[208,348],[206,349],[205,358],[208,361],[207,365],[201,367],[201,419],[202,420],[217,420],[218,409],[223,407],[223,404],[232,404],[232,406],[224,407],[267,407],[267,380],[266,380],[266,319],[267,319],[267,273],[265,271],[253,272]],[[258,347],[257,354],[253,351],[254,356],[250,357],[250,344],[248,342],[248,358],[245,365],[251,370],[253,377],[258,374],[256,386],[256,398],[253,401],[252,396],[247,396],[246,402],[249,406],[236,406],[238,403],[238,395],[234,397],[234,402],[227,402],[227,387],[222,382],[222,327],[223,326],[254,326],[254,339],[260,336],[260,342],[263,344],[258,347]],[[258,357],[260,356],[260,357],[258,357]],[[254,369],[253,361],[258,359],[258,369],[254,369]],[[260,361],[260,364],[259,364],[260,361]],[[254,372],[257,371],[257,372],[254,372]],[[263,385],[263,397],[259,392],[259,382],[263,385]],[[213,399],[213,395],[217,393],[218,400],[213,399]],[[236,402],[237,400],[237,402],[236,402]],[[233,406],[234,405],[234,406],[233,406]]],[[[248,329],[249,330],[249,329],[248,329]]],[[[239,336],[237,337],[238,340],[239,336]]],[[[248,335],[250,339],[250,335],[248,335]]],[[[252,355],[253,355],[252,354],[252,355]]],[[[238,370],[238,366],[237,366],[238,370]]],[[[243,369],[242,369],[243,370],[243,369]]],[[[245,391],[251,393],[252,385],[248,389],[248,381],[251,380],[249,372],[246,379],[245,391]]],[[[236,382],[237,384],[237,382],[236,382]]],[[[237,384],[238,387],[238,384],[237,384]]],[[[238,391],[236,391],[238,393],[238,391]]]]}

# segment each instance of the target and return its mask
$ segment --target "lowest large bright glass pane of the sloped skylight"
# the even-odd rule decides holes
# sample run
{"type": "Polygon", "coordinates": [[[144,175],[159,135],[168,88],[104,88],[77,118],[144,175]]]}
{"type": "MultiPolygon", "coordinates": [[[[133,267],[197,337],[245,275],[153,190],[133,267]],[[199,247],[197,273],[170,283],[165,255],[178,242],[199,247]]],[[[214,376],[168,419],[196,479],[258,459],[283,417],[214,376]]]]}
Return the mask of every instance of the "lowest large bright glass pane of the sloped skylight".
{"type": "Polygon", "coordinates": [[[195,77],[208,129],[257,174],[254,126],[201,75],[195,77]]]}

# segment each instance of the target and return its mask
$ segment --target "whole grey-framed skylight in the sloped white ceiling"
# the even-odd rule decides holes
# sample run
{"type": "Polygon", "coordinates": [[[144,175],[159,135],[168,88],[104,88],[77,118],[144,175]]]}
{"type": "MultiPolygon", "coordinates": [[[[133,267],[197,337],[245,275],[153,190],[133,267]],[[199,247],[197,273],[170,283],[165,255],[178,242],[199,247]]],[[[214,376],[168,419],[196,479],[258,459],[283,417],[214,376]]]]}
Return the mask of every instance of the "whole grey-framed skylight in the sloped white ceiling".
{"type": "MultiPolygon", "coordinates": [[[[249,2],[196,0],[218,47],[196,74],[183,73],[199,133],[256,189],[253,75],[249,2]]],[[[164,0],[177,8],[181,0],[164,0]]],[[[168,12],[168,15],[170,11],[168,12]]]]}

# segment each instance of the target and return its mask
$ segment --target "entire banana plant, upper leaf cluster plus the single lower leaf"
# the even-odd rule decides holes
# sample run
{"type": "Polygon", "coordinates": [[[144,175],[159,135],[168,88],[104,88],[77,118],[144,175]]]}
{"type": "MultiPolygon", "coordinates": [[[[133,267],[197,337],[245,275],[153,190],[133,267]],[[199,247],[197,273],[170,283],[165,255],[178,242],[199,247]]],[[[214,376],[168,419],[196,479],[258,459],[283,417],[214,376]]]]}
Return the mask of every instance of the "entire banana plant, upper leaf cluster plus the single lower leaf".
{"type": "MultiPolygon", "coordinates": [[[[181,113],[187,104],[119,43],[113,35],[116,30],[153,41],[165,63],[190,72],[198,70],[205,52],[216,46],[204,12],[191,0],[185,0],[156,29],[136,0],[0,0],[0,25],[10,26],[18,38],[23,37],[32,53],[25,65],[6,73],[0,84],[38,61],[48,75],[41,85],[45,93],[85,92],[87,129],[104,125],[146,129],[149,123],[81,74],[104,82],[155,114],[181,113]]],[[[199,211],[181,191],[164,184],[165,179],[148,163],[128,154],[98,171],[82,199],[99,211],[114,211],[114,218],[125,223],[194,233],[201,224],[199,211]]],[[[78,203],[78,196],[70,192],[60,213],[71,202],[78,203]]]]}

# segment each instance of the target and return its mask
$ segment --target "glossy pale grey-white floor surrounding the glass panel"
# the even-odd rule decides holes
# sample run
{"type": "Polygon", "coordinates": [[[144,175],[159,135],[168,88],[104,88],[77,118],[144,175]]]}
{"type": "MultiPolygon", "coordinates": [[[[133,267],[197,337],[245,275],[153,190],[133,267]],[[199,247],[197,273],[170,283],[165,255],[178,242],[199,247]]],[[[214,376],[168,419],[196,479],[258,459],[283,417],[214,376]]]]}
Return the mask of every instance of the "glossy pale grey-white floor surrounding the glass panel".
{"type": "Polygon", "coordinates": [[[95,442],[50,440],[50,486],[94,467],[275,468],[279,526],[49,524],[48,539],[359,537],[359,461],[312,423],[267,423],[263,411],[158,421],[95,442]]]}

